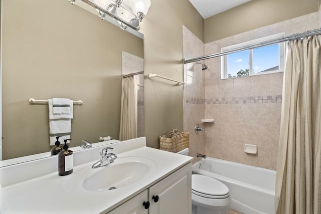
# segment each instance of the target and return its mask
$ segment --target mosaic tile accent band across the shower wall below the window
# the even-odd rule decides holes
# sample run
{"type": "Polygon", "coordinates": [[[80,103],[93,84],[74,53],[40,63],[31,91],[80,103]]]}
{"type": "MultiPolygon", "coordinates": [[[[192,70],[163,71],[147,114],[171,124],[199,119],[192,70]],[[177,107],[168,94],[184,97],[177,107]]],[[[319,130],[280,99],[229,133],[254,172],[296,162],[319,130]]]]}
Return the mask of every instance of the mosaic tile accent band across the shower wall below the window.
{"type": "Polygon", "coordinates": [[[282,95],[252,96],[252,97],[223,97],[204,99],[199,97],[186,98],[188,104],[248,104],[248,103],[282,103],[282,95]]]}

